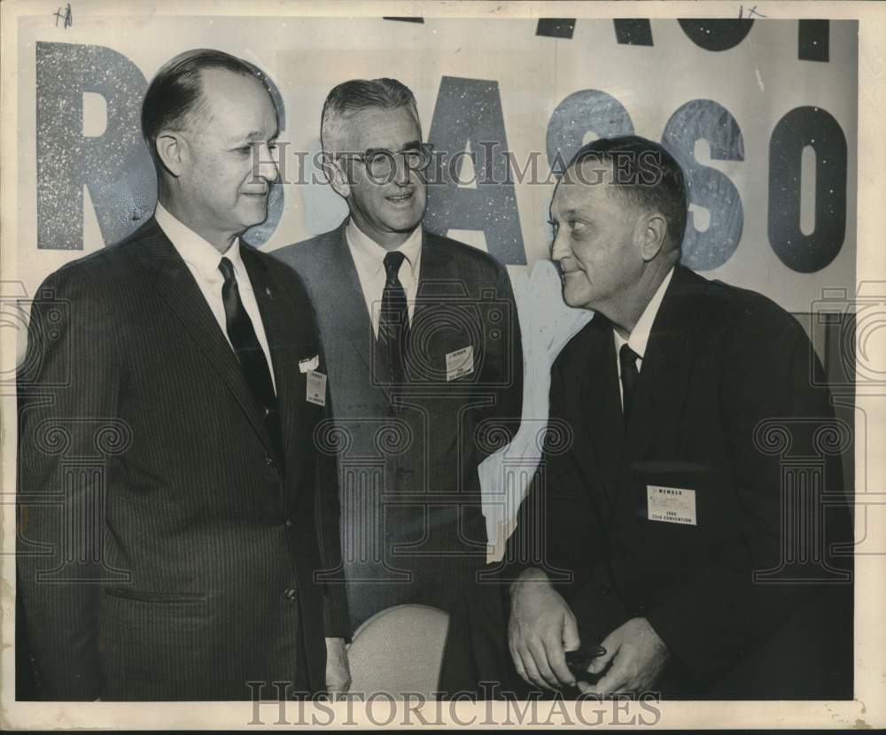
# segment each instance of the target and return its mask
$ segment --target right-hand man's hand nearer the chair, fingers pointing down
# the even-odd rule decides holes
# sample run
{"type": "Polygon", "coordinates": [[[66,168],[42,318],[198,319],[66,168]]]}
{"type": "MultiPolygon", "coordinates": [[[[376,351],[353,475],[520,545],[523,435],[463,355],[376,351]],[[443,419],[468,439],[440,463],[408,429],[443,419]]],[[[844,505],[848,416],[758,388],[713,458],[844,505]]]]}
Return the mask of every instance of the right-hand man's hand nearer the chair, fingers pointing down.
{"type": "Polygon", "coordinates": [[[543,689],[575,685],[565,652],[579,647],[579,628],[540,569],[526,569],[511,586],[508,647],[528,683],[543,689]]]}

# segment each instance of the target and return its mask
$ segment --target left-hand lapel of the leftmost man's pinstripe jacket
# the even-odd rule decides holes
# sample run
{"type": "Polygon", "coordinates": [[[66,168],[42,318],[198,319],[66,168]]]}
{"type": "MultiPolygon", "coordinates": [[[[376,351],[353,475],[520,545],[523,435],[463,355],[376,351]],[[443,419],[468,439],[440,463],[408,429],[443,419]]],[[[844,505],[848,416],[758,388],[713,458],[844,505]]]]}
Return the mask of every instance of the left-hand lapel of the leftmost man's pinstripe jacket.
{"type": "Polygon", "coordinates": [[[143,267],[152,272],[155,288],[182,321],[185,331],[204,352],[209,365],[237,399],[268,452],[273,453],[268,430],[255,407],[252,393],[240,370],[240,363],[228,340],[222,335],[219,323],[215,321],[193,275],[156,220],[152,218],[145,222],[142,230],[144,232],[137,234],[141,244],[137,257],[143,267]]]}

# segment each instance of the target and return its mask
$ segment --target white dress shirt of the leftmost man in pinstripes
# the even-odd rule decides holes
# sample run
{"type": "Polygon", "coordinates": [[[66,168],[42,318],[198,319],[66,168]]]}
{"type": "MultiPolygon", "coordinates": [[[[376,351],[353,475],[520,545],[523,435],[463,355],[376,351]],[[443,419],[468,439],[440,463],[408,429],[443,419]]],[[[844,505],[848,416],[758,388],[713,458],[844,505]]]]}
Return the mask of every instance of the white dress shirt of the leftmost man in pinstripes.
{"type": "MultiPolygon", "coordinates": [[[[217,251],[213,244],[210,244],[190,229],[183,222],[176,220],[169,211],[157,203],[157,210],[154,212],[154,218],[157,220],[160,229],[172,242],[175,250],[182,256],[184,264],[190,270],[191,275],[200,287],[203,298],[206,298],[206,304],[212,310],[215,321],[218,322],[221,334],[228,340],[228,326],[225,321],[224,302],[221,300],[221,286],[224,284],[224,276],[219,270],[221,263],[221,253],[217,251]]],[[[253,322],[255,337],[259,340],[261,351],[265,353],[265,360],[268,360],[268,372],[271,374],[271,383],[274,385],[276,392],[276,382],[274,380],[274,363],[271,361],[271,352],[268,348],[268,337],[265,336],[265,325],[261,322],[261,313],[259,311],[258,302],[255,300],[253,293],[253,284],[249,281],[249,274],[246,273],[246,267],[243,259],[240,257],[240,238],[234,240],[228,251],[224,253],[224,257],[229,259],[234,266],[234,275],[237,277],[237,290],[240,291],[240,301],[249,319],[253,322]]],[[[231,345],[231,349],[234,347],[231,345]]]]}

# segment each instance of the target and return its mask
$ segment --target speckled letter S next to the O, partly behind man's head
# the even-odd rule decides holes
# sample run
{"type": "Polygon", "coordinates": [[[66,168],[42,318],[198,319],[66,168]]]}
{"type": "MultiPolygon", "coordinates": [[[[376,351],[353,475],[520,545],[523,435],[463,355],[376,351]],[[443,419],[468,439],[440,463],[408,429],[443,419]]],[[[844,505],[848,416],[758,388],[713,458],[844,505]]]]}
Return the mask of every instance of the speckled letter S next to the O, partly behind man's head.
{"type": "Polygon", "coordinates": [[[694,99],[681,105],[662,134],[665,148],[686,172],[689,203],[707,209],[711,218],[708,228],[700,232],[689,212],[681,262],[696,270],[712,270],[722,266],[738,247],[744,208],[742,197],[726,175],[696,161],[699,140],[711,146],[711,159],[743,161],[744,139],[732,114],[710,99],[694,99]]]}

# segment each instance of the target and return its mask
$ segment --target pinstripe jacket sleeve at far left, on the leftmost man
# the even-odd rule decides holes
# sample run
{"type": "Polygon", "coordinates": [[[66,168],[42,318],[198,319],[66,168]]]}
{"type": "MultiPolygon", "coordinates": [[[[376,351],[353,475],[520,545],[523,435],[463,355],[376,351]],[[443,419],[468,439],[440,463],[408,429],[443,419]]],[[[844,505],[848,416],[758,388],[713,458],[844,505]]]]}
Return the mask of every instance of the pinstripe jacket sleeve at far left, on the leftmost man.
{"type": "Polygon", "coordinates": [[[105,472],[77,467],[96,455],[97,423],[117,407],[119,363],[100,293],[85,268],[51,275],[33,302],[18,373],[19,592],[35,677],[49,700],[94,700],[103,685],[105,472]]]}

